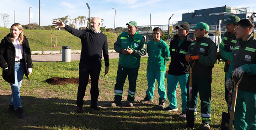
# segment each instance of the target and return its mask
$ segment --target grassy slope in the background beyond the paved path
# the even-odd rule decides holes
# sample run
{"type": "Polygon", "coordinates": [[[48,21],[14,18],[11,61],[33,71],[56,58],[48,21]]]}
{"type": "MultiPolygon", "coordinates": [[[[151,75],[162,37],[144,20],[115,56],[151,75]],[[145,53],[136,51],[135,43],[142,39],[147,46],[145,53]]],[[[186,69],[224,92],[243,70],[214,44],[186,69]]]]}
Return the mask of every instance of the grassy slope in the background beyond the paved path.
{"type": "MultiPolygon", "coordinates": [[[[10,29],[0,27],[0,38],[3,39],[10,29]]],[[[103,32],[108,39],[108,49],[114,49],[114,42],[118,37],[117,34],[111,32],[103,32]]],[[[46,51],[46,50],[62,50],[62,46],[71,46],[71,50],[81,50],[80,38],[73,36],[67,31],[57,31],[57,47],[56,46],[56,30],[24,30],[24,35],[27,37],[31,51],[46,51]]]]}

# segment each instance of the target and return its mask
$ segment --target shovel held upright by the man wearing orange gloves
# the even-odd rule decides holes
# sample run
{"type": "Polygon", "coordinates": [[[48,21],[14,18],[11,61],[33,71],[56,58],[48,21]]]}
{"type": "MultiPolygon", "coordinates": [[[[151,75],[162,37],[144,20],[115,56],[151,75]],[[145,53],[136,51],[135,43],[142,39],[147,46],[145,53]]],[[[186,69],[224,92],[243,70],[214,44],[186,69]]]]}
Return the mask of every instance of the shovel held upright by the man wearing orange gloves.
{"type": "MultiPolygon", "coordinates": [[[[195,61],[194,61],[194,63],[195,63],[195,61]]],[[[191,109],[190,108],[191,99],[192,99],[192,69],[193,69],[194,63],[192,65],[192,67],[190,67],[190,82],[189,82],[190,84],[189,84],[188,108],[186,108],[186,120],[187,120],[188,128],[194,128],[194,126],[195,126],[195,124],[194,124],[194,109],[190,110],[191,109]]]]}

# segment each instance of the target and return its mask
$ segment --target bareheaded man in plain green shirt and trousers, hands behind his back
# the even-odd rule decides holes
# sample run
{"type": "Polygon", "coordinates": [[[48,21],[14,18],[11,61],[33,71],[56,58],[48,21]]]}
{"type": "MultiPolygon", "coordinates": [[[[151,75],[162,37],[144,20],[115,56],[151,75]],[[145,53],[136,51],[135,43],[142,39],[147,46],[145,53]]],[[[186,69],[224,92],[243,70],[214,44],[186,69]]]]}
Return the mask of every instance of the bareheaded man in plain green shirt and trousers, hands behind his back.
{"type": "Polygon", "coordinates": [[[152,103],[155,91],[155,81],[158,81],[159,106],[158,109],[165,107],[166,91],[165,91],[165,63],[170,59],[170,51],[168,45],[161,39],[162,29],[155,27],[152,33],[153,39],[148,42],[148,67],[147,79],[148,89],[146,97],[141,103],[152,103]]]}

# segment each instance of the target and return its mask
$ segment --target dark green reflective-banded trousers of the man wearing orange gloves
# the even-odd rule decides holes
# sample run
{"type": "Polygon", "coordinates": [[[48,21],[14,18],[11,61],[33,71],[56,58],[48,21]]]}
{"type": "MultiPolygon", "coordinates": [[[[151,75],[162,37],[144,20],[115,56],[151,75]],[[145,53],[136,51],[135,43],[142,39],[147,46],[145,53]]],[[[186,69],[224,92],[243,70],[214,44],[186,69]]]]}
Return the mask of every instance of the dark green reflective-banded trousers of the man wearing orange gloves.
{"type": "MultiPolygon", "coordinates": [[[[188,83],[189,83],[189,77],[188,77],[188,83]]],[[[208,78],[192,78],[192,100],[190,108],[192,110],[194,109],[194,118],[197,118],[197,102],[198,102],[198,93],[199,98],[201,100],[201,117],[202,117],[202,123],[210,124],[211,120],[211,96],[212,96],[212,77],[208,78]]],[[[189,85],[187,85],[187,97],[189,97],[189,85]]],[[[189,102],[187,101],[187,107],[189,102]]]]}

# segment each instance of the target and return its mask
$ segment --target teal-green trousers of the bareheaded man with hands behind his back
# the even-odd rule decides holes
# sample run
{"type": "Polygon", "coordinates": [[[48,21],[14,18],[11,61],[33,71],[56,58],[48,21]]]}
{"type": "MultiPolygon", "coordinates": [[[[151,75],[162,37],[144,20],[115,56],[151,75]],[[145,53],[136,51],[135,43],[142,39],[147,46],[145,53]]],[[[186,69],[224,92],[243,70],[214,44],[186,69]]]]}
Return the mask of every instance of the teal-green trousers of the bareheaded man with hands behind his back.
{"type": "Polygon", "coordinates": [[[158,94],[159,99],[166,100],[166,91],[165,91],[165,72],[154,72],[147,70],[147,79],[148,79],[148,89],[146,94],[148,95],[148,99],[152,100],[154,98],[155,91],[155,81],[158,81],[158,94]]]}

